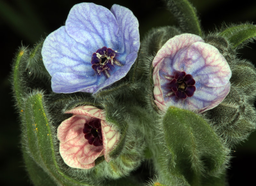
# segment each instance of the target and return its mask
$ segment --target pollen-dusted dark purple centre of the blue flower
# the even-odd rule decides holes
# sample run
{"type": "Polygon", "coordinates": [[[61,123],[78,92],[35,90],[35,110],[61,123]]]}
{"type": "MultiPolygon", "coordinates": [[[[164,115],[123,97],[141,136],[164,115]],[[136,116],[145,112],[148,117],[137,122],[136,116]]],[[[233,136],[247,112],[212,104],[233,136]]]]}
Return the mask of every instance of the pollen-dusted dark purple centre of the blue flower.
{"type": "Polygon", "coordinates": [[[114,68],[114,64],[122,66],[116,59],[116,52],[111,48],[102,47],[92,54],[92,68],[97,75],[104,74],[107,78],[110,76],[109,70],[114,68]]]}

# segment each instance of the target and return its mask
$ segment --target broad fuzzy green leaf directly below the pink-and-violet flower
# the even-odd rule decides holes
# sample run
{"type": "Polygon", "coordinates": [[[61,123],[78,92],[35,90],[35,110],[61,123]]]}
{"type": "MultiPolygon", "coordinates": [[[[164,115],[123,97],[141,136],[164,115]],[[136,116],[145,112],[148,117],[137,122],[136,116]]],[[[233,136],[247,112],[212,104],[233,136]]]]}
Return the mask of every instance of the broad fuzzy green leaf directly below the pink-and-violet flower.
{"type": "Polygon", "coordinates": [[[194,112],[169,107],[164,118],[164,140],[170,151],[170,173],[190,185],[201,185],[204,176],[219,176],[228,160],[228,149],[211,126],[194,112]]]}

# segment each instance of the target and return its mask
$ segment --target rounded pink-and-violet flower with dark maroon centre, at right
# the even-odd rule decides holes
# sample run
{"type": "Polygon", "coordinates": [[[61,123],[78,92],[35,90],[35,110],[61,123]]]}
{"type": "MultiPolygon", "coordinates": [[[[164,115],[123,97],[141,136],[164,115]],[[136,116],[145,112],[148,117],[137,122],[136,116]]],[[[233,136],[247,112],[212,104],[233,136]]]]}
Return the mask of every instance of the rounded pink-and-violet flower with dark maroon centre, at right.
{"type": "Polygon", "coordinates": [[[219,50],[194,34],[169,39],[153,60],[156,105],[203,112],[228,95],[231,70],[219,50]]]}

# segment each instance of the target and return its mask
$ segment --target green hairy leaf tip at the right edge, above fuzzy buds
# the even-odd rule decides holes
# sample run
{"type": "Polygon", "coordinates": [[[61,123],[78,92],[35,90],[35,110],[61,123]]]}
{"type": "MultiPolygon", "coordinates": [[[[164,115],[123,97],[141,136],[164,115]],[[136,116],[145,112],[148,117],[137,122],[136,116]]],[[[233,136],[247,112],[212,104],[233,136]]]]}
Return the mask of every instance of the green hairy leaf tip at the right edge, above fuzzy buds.
{"type": "Polygon", "coordinates": [[[227,38],[233,44],[233,48],[236,48],[256,37],[256,26],[251,24],[236,25],[220,32],[219,35],[227,38]]]}

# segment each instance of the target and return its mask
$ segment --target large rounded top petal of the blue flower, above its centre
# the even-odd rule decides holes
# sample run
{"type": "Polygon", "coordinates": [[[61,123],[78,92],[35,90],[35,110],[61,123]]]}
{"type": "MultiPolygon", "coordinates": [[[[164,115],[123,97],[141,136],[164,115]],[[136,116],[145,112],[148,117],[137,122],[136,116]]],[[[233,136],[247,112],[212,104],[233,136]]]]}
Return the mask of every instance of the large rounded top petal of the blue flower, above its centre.
{"type": "Polygon", "coordinates": [[[93,3],[74,5],[66,20],[66,30],[84,44],[91,55],[104,46],[117,50],[123,43],[115,16],[107,8],[93,3]]]}

